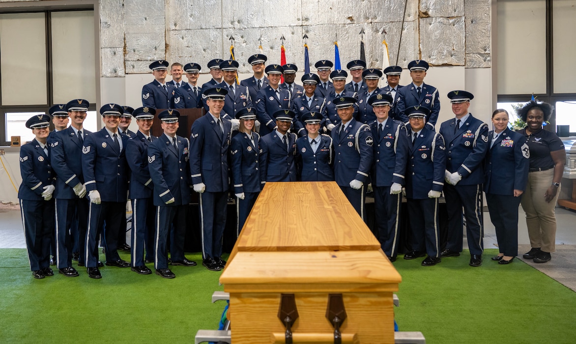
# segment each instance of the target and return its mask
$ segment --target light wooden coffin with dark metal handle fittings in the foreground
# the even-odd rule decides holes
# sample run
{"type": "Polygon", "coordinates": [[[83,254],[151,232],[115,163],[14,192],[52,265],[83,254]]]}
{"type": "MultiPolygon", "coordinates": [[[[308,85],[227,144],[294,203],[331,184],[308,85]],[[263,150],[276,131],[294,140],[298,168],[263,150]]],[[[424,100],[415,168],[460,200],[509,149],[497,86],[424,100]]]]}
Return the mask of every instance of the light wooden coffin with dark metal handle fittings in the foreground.
{"type": "Polygon", "coordinates": [[[400,281],[335,182],[266,183],[220,277],[233,343],[393,343],[400,281]]]}

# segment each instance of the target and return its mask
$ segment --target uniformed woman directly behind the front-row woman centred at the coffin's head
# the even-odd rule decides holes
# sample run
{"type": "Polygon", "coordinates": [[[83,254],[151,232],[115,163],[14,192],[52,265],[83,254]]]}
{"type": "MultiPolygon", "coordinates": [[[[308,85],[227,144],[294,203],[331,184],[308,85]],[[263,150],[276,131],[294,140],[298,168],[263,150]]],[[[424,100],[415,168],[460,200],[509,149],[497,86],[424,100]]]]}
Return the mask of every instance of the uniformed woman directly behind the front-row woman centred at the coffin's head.
{"type": "Polygon", "coordinates": [[[294,132],[298,137],[304,137],[306,135],[306,127],[302,121],[302,115],[306,112],[313,111],[318,113],[321,118],[320,126],[324,125],[326,117],[326,100],[319,97],[315,92],[317,85],[320,83],[320,78],[316,74],[304,74],[302,75],[302,84],[304,84],[305,93],[294,100],[292,103],[292,111],[294,111],[294,132]]]}

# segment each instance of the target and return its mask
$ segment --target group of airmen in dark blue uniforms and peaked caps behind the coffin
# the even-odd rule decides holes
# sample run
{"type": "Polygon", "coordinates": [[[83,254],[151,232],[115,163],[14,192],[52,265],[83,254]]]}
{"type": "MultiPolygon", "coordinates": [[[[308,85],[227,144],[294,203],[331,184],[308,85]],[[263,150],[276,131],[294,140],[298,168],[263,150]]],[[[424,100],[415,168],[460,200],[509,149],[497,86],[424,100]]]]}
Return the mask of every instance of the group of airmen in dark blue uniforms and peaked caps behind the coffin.
{"type": "Polygon", "coordinates": [[[169,264],[196,265],[184,256],[191,192],[199,194],[202,264],[221,270],[229,191],[236,196],[240,231],[266,182],[296,181],[335,181],[362,218],[370,184],[374,235],[392,262],[403,195],[412,248],[404,259],[426,256],[423,266],[460,255],[464,207],[470,265],[482,264],[480,193],[488,126],[469,114],[471,93],[448,93],[455,117],[436,132],[440,103],[438,90],[423,81],[426,61],[408,64],[412,81],[406,86],[399,85],[400,66],[367,69],[361,60],[347,64],[347,84],[346,70],[332,71],[333,63],[321,60],[314,65],[317,74],[302,76],[302,85],[294,82],[294,64],[266,66],[262,54],[248,62],[254,75],[238,83],[237,61],[213,59],[212,79],[198,86],[198,63],[173,63],[167,82],[169,63],[155,61],[154,81],[142,88],[143,106],[103,105],[104,128],[96,133],[82,127],[89,106],[82,99],[28,120],[36,139],[21,149],[18,195],[35,278],[53,274],[50,251],[59,273],[77,276],[72,260],[78,259],[89,277],[101,278],[100,238],[107,266],[150,274],[146,263],[154,263],[156,274],[174,278],[169,264]],[[378,88],[382,74],[388,85],[378,88]],[[176,134],[180,108],[206,110],[192,124],[190,138],[176,134]],[[69,118],[70,126],[61,118],[69,118]],[[127,130],[131,118],[136,133],[127,130]],[[56,131],[48,133],[50,120],[56,131]],[[151,134],[153,120],[160,120],[160,137],[151,134]],[[442,191],[449,219],[444,251],[438,233],[442,191]],[[128,199],[130,245],[121,239],[128,199]],[[131,251],[131,262],[120,259],[123,248],[131,251]]]}

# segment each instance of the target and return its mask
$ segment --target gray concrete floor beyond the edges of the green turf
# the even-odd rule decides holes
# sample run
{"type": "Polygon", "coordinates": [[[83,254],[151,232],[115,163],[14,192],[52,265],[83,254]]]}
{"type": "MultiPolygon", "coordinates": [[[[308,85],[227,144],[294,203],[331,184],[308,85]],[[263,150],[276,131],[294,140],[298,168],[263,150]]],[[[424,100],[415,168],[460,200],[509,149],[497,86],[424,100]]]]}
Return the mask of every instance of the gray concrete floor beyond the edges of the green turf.
{"type": "MultiPolygon", "coordinates": [[[[542,273],[554,278],[576,292],[576,211],[556,208],[556,252],[552,253],[552,260],[548,263],[537,264],[532,260],[522,259],[521,256],[530,250],[528,230],[526,229],[525,215],[522,207],[518,214],[518,255],[517,262],[526,263],[542,273]]],[[[128,238],[128,240],[130,240],[128,238]]],[[[130,241],[128,241],[130,242],[130,241]]],[[[467,247],[464,239],[464,248],[467,247]]],[[[25,248],[24,229],[18,205],[0,204],[0,248],[25,248]]],[[[487,209],[484,211],[484,248],[497,248],[496,232],[490,222],[487,209]]],[[[488,259],[485,257],[484,260],[488,259]]]]}

